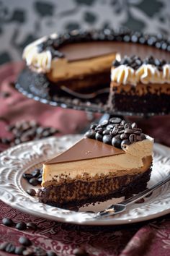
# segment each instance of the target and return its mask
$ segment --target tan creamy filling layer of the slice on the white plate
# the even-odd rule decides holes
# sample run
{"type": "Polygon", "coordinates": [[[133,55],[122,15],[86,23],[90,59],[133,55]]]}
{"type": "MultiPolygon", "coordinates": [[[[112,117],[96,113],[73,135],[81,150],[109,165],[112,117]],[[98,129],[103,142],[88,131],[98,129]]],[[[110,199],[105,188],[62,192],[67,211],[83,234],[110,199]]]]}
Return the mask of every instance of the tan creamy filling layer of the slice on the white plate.
{"type": "MultiPolygon", "coordinates": [[[[102,144],[104,145],[104,143],[102,144]]],[[[111,145],[107,145],[107,147],[114,148],[111,145]]],[[[81,161],[64,161],[49,164],[47,162],[43,166],[42,187],[53,183],[71,182],[75,179],[88,181],[101,179],[107,175],[133,175],[142,173],[151,166],[153,150],[153,139],[151,137],[135,142],[132,145],[126,145],[124,150],[125,153],[81,159],[81,161]]]]}

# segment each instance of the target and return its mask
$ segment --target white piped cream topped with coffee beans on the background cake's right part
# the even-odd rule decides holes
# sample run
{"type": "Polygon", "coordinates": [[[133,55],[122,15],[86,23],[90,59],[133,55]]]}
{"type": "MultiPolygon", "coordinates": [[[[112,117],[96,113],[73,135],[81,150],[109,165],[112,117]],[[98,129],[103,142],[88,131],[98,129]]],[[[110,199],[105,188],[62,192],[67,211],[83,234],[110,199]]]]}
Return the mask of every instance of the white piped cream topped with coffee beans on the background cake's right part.
{"type": "Polygon", "coordinates": [[[138,56],[116,60],[111,69],[111,81],[117,85],[170,83],[170,64],[162,61],[156,66],[153,61],[153,57],[142,61],[138,56]]]}

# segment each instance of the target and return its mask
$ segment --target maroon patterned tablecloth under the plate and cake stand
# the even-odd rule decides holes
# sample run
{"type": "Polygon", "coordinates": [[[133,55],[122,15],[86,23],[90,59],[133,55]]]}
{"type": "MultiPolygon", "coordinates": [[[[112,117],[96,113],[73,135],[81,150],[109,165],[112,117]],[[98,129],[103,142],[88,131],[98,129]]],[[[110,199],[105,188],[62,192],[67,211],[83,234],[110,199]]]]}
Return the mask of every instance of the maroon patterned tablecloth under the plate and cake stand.
{"type": "MultiPolygon", "coordinates": [[[[43,126],[60,129],[63,134],[81,131],[89,121],[82,111],[54,108],[25,98],[11,85],[14,82],[21,63],[8,64],[0,69],[0,137],[6,137],[6,124],[25,119],[40,122],[43,126]],[[4,94],[5,92],[5,94],[4,94]],[[8,97],[4,97],[9,93],[8,97]]],[[[140,119],[143,129],[156,140],[170,145],[169,117],[140,119]]],[[[3,148],[1,148],[2,150],[3,148]]],[[[19,236],[24,234],[32,242],[58,255],[73,255],[73,249],[83,245],[89,255],[120,256],[158,256],[170,255],[170,216],[152,221],[124,226],[79,226],[48,221],[21,213],[0,200],[0,242],[18,244],[19,236]],[[33,221],[39,227],[37,231],[18,231],[1,223],[4,216],[19,221],[33,221]]],[[[9,255],[0,252],[1,256],[9,255]]]]}

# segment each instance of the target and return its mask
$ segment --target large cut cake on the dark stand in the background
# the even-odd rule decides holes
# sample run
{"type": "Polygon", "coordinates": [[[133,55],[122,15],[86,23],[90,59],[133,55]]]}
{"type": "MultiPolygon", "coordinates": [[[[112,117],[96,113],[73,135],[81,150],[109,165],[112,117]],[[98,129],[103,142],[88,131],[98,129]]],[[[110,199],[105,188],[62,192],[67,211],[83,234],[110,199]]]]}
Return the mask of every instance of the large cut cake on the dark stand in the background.
{"type": "Polygon", "coordinates": [[[109,28],[54,33],[24,48],[23,59],[34,74],[30,90],[36,95],[46,95],[42,88],[52,96],[109,91],[112,67],[109,104],[104,98],[109,111],[170,111],[170,43],[162,35],[109,28]]]}

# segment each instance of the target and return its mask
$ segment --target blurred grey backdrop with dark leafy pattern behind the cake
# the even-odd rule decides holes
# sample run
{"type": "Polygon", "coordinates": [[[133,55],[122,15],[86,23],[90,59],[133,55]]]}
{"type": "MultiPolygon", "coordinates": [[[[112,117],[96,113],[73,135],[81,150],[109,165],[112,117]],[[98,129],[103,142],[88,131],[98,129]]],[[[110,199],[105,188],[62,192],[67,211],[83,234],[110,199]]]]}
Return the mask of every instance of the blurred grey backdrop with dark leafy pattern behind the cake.
{"type": "Polygon", "coordinates": [[[55,31],[123,25],[170,35],[169,10],[169,0],[0,0],[0,64],[55,31]]]}

